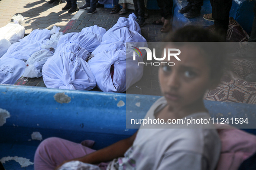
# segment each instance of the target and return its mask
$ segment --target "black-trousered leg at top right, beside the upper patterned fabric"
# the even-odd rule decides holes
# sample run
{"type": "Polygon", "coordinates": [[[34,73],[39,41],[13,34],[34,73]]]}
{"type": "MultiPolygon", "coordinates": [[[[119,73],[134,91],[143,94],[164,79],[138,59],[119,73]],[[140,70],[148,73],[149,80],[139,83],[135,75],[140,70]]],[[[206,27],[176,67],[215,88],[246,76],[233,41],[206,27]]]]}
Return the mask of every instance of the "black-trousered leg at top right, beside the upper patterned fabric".
{"type": "Polygon", "coordinates": [[[232,0],[211,0],[215,31],[226,41],[232,0]]]}

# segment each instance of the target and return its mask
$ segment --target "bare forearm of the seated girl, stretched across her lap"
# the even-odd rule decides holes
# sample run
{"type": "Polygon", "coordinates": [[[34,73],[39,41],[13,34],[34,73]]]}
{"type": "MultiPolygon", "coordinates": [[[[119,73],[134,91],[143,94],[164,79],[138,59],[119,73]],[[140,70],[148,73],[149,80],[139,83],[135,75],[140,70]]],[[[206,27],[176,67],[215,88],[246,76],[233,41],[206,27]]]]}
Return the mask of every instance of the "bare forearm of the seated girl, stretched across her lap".
{"type": "MultiPolygon", "coordinates": [[[[137,132],[131,137],[118,141],[106,148],[95,151],[91,154],[87,154],[84,157],[79,157],[69,161],[81,161],[88,164],[98,164],[100,162],[112,161],[114,158],[123,157],[124,153],[133,145],[133,141],[136,138],[137,132]]],[[[64,161],[62,164],[69,162],[64,161]]],[[[59,165],[58,167],[62,166],[59,165]]],[[[56,169],[58,169],[56,167],[56,169]]]]}

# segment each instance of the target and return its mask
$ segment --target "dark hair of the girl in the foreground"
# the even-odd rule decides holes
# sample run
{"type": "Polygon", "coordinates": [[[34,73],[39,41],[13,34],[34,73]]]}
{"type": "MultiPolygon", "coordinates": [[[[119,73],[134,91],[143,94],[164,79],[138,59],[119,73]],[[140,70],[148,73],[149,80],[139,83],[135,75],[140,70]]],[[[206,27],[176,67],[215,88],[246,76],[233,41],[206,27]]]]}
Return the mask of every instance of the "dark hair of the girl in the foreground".
{"type": "Polygon", "coordinates": [[[165,42],[175,45],[189,44],[198,47],[210,66],[211,78],[217,81],[220,81],[225,66],[225,43],[221,41],[222,39],[210,30],[194,25],[180,28],[165,38],[165,42]]]}

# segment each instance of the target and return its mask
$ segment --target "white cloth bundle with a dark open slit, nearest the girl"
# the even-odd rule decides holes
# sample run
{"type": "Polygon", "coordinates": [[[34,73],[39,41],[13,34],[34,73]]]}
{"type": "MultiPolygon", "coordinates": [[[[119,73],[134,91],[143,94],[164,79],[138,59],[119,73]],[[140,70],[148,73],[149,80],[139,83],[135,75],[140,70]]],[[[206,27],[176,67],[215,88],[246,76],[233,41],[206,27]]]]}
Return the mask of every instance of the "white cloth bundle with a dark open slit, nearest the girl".
{"type": "Polygon", "coordinates": [[[143,62],[142,57],[133,60],[132,49],[115,49],[97,53],[88,60],[97,87],[104,92],[124,92],[143,76],[143,65],[138,66],[138,62],[143,62]],[[127,52],[127,55],[126,55],[127,52]],[[113,79],[110,68],[113,71],[113,79]]]}

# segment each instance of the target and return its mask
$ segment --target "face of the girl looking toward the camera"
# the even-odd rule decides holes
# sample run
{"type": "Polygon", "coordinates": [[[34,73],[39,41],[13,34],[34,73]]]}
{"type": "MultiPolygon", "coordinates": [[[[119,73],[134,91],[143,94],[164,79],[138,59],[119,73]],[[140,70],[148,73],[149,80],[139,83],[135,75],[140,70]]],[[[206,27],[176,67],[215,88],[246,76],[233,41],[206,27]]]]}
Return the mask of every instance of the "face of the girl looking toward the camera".
{"type": "MultiPolygon", "coordinates": [[[[211,88],[210,68],[205,57],[199,53],[198,47],[188,45],[177,47],[181,50],[178,56],[181,61],[170,57],[164,62],[173,62],[174,66],[159,67],[159,82],[169,107],[180,109],[201,109],[203,96],[211,88]],[[201,105],[200,105],[201,104],[201,105]]],[[[167,58],[167,57],[166,57],[167,58]]]]}

